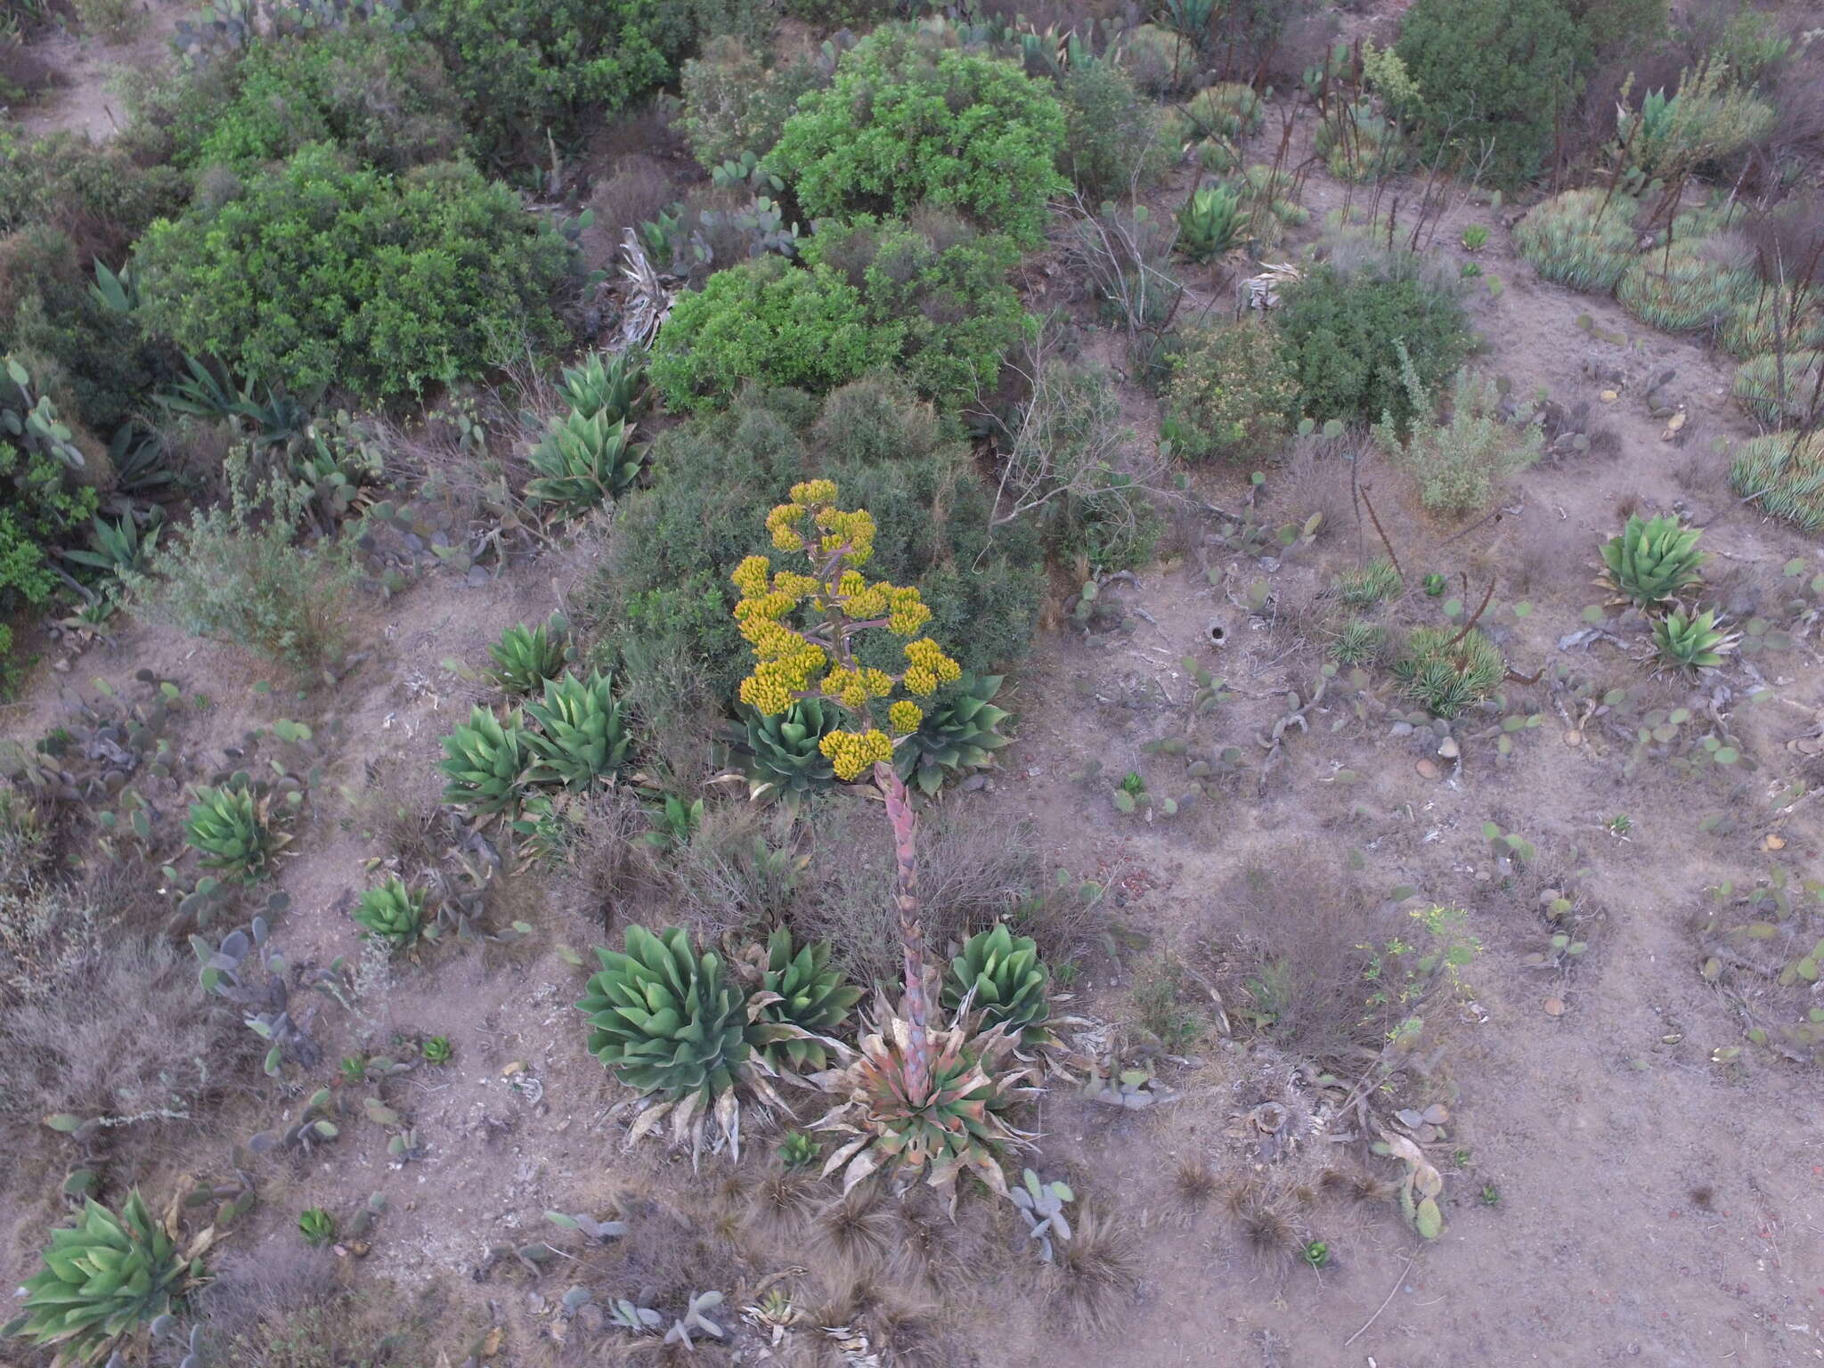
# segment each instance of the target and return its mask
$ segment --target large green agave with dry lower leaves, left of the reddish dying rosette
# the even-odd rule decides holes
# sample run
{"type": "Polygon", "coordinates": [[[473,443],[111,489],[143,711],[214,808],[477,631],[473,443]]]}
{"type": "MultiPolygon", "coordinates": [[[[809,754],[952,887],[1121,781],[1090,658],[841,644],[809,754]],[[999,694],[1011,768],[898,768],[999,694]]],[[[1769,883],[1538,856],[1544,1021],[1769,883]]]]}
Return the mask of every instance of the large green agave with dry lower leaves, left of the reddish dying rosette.
{"type": "Polygon", "coordinates": [[[699,954],[682,927],[655,936],[627,927],[626,954],[598,948],[600,970],[576,1007],[589,1018],[589,1052],[644,1096],[657,1096],[627,1131],[627,1144],[666,1116],[671,1136],[702,1149],[713,1114],[741,1158],[737,1087],[782,1105],[766,1082],[764,1047],[793,1038],[797,1027],[761,1020],[764,1001],[730,979],[722,958],[699,954]]]}

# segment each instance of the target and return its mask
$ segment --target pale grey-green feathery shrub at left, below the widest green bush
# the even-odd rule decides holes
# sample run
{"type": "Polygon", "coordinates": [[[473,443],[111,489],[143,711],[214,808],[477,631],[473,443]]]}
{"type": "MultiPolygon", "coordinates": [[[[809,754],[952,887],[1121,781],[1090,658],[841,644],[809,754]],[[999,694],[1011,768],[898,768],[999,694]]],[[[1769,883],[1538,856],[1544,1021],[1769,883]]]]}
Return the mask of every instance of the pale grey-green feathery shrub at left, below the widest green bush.
{"type": "Polygon", "coordinates": [[[359,573],[354,547],[299,547],[310,489],[255,482],[244,456],[224,467],[228,500],[170,529],[146,575],[124,575],[137,609],[193,637],[244,646],[299,675],[339,658],[359,573]]]}

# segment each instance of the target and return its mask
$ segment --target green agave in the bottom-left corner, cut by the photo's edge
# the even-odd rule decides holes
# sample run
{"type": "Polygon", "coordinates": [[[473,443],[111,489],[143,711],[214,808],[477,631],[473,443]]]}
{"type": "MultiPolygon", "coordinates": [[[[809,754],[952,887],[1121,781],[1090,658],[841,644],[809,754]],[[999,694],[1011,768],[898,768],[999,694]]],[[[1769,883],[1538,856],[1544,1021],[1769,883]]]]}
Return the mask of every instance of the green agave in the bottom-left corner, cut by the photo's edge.
{"type": "Polygon", "coordinates": [[[199,1237],[190,1251],[179,1251],[137,1187],[120,1215],[89,1200],[73,1228],[51,1231],[44,1271],[26,1280],[24,1313],[0,1333],[55,1346],[53,1368],[97,1363],[122,1337],[171,1313],[201,1277],[206,1248],[199,1237]]]}

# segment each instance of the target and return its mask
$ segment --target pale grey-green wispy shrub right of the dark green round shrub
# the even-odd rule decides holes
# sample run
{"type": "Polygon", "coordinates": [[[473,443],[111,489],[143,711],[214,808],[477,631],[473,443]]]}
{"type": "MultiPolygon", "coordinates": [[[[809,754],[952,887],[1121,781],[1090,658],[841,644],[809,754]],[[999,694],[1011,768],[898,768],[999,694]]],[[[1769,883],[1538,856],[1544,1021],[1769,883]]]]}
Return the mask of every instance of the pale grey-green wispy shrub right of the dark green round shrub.
{"type": "Polygon", "coordinates": [[[1414,418],[1404,440],[1392,414],[1375,427],[1375,440],[1394,463],[1419,485],[1430,513],[1459,516],[1488,507],[1496,487],[1525,471],[1545,451],[1538,423],[1510,423],[1501,416],[1501,394],[1487,376],[1468,367],[1450,381],[1450,416],[1432,420],[1432,403],[1401,348],[1401,367],[1414,418]]]}

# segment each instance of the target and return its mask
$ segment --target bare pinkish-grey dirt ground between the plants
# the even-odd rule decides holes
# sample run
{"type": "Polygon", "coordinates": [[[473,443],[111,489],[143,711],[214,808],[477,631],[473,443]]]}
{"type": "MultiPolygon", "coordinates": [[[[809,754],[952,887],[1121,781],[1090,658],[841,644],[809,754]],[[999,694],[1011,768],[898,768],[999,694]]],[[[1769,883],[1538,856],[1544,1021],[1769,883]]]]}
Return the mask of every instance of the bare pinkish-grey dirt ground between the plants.
{"type": "MultiPolygon", "coordinates": [[[[73,108],[64,106],[64,119],[73,108]]],[[[1317,173],[1304,199],[1321,219],[1344,193],[1317,173]]],[[[1204,1156],[1228,1180],[1266,1171],[1257,1136],[1231,1135],[1237,1114],[1295,1094],[1313,1111],[1322,1107],[1322,1089],[1297,1080],[1244,1031],[1224,1032],[1215,1003],[1197,989],[1191,996],[1207,1021],[1202,1038],[1176,1062],[1156,1062],[1176,1100],[1127,1113],[1060,1087],[1040,1111],[1036,1167],[1069,1173],[1133,1231],[1138,1295],[1116,1308],[1113,1328],[1073,1330],[1005,1211],[967,1198],[959,1233],[945,1237],[954,1246],[932,1271],[877,1275],[885,1291],[870,1293],[876,1301],[941,1301],[950,1324],[923,1357],[890,1361],[1784,1368],[1824,1359],[1817,1074],[1771,1051],[1740,1049],[1744,1009],[1698,974],[1691,928],[1705,890],[1726,879],[1753,881],[1775,861],[1795,872],[1819,868],[1817,806],[1778,799],[1797,768],[1784,746],[1824,708],[1817,644],[1800,638],[1782,655],[1736,660],[1698,686],[1651,680],[1631,658],[1645,637],[1638,627],[1623,646],[1561,644],[1583,626],[1583,607],[1601,598],[1589,586],[1589,562],[1625,509],[1682,509],[1704,525],[1705,547],[1718,556],[1711,578],[1738,617],[1778,596],[1788,560],[1824,569],[1824,558],[1817,544],[1760,520],[1727,491],[1727,458],[1713,440],[1751,429],[1727,403],[1726,358],[1693,339],[1653,334],[1612,301],[1538,281],[1487,206],[1459,201],[1430,250],[1457,259],[1457,232],[1472,219],[1494,230],[1479,259],[1505,285],[1499,295],[1483,288],[1474,303],[1487,339],[1483,363],[1508,376],[1518,394],[1543,387],[1565,407],[1587,403],[1591,423],[1612,429],[1614,449],[1530,471],[1508,491],[1499,520],[1448,545],[1457,529],[1430,525],[1404,505],[1403,480],[1364,458],[1363,482],[1394,549],[1412,567],[1466,573],[1470,606],[1498,575],[1481,622],[1527,675],[1561,669],[1570,680],[1594,680],[1596,697],[1627,688],[1663,706],[1704,702],[1727,688],[1722,706],[1758,768],[1682,777],[1649,761],[1623,777],[1625,737],[1581,717],[1572,691],[1554,689],[1550,673],[1514,689],[1510,711],[1536,713],[1541,724],[1512,733],[1510,751],[1499,748],[1507,735],[1499,717],[1474,717],[1452,733],[1459,755],[1441,755],[1439,733],[1410,724],[1384,673],[1363,684],[1346,671],[1308,711],[1306,730],[1290,731],[1277,762],[1262,768],[1260,737],[1286,711],[1286,695],[1304,700],[1319,679],[1317,593],[1361,554],[1379,554],[1379,538],[1353,518],[1333,520],[1313,545],[1266,564],[1217,544],[1193,511],[1193,531],[1173,560],[1109,587],[1118,626],[1042,635],[1012,677],[1018,741],[1001,751],[990,786],[952,793],[945,804],[961,821],[1020,832],[1010,839],[1034,843],[1047,866],[1109,881],[1120,952],[1085,956],[1073,1003],[1105,1021],[1133,1016],[1131,989],[1164,954],[1207,967],[1211,945],[1270,930],[1249,927],[1237,897],[1248,868],[1295,870],[1311,861],[1348,872],[1368,903],[1381,905],[1377,916],[1395,919],[1417,905],[1466,908],[1466,928],[1483,950],[1465,967],[1463,990],[1432,1009],[1432,1067],[1406,1076],[1394,1104],[1448,1111],[1430,1145],[1445,1180],[1445,1233],[1421,1242],[1384,1204],[1352,1204],[1322,1187],[1293,1193],[1297,1222],[1333,1249],[1326,1268],[1310,1270],[1262,1259],[1220,1197],[1202,1211],[1178,1211],[1173,1175],[1186,1158],[1204,1156]],[[1583,316],[1589,325],[1580,325],[1583,316]],[[1689,416],[1671,440],[1643,398],[1665,370],[1676,374],[1658,401],[1673,396],[1689,416]],[[1616,398],[1603,399],[1605,390],[1616,398]],[[1244,593],[1257,578],[1270,586],[1270,600],[1253,609],[1244,593]],[[1226,627],[1220,648],[1209,644],[1211,620],[1226,627]],[[1186,657],[1231,689],[1215,715],[1195,722],[1186,657]],[[1777,699],[1749,704],[1746,693],[1758,682],[1777,699]],[[1109,790],[1127,770],[1156,792],[1176,792],[1182,759],[1144,746],[1182,735],[1187,722],[1200,746],[1240,748],[1240,773],[1176,817],[1118,814],[1109,790]],[[1083,779],[1091,762],[1100,762],[1100,775],[1083,779]],[[1629,824],[1616,832],[1611,823],[1622,814],[1629,824]],[[1724,824],[1729,834],[1700,832],[1709,814],[1733,815],[1724,824]],[[1487,821],[1538,848],[1530,868],[1498,865],[1487,821]],[[1574,890],[1591,912],[1589,950],[1567,970],[1527,963],[1552,932],[1538,910],[1541,888],[1574,890]],[[1488,1184],[1499,1195],[1492,1206],[1481,1200],[1488,1184]]],[[[1131,412],[1147,410],[1145,396],[1127,398],[1131,412]]],[[[1226,509],[1246,492],[1240,476],[1200,478],[1193,491],[1226,509]]],[[[1279,518],[1308,511],[1295,496],[1268,471],[1262,498],[1279,518]]],[[[1348,509],[1346,498],[1341,507],[1348,509]]],[[[578,573],[576,554],[553,553],[480,587],[430,578],[376,602],[359,624],[370,658],[303,704],[255,695],[261,671],[230,648],[133,627],[67,675],[44,671],[26,706],[4,713],[5,730],[35,737],[55,724],[60,689],[89,677],[128,688],[140,668],[210,695],[212,708],[186,737],[197,751],[232,744],[274,717],[303,715],[319,731],[339,720],[347,741],[281,876],[292,908],[274,938],[299,969],[358,958],[347,905],[365,886],[363,859],[378,850],[365,837],[361,793],[398,777],[401,795],[434,799],[438,737],[469,706],[469,686],[441,662],[480,664],[505,626],[542,618],[578,573]]],[[[748,1176],[735,1176],[726,1156],[711,1156],[693,1176],[688,1156],[653,1145],[620,1149],[624,1127],[613,1109],[624,1096],[584,1051],[571,1007],[582,970],[560,948],[604,943],[617,908],[560,905],[534,876],[511,872],[496,899],[505,908],[496,923],[523,917],[534,927],[529,939],[445,947],[389,974],[368,970],[352,1012],[325,1007],[317,1020],[330,1062],[358,1047],[385,1052],[427,1034],[451,1038],[454,1063],[385,1087],[387,1104],[420,1136],[423,1158],[389,1160],[389,1127],[354,1116],[321,1156],[259,1160],[261,1206],[233,1244],[295,1242],[301,1206],[348,1211],[368,1193],[385,1195],[389,1209],[359,1279],[390,1280],[410,1295],[440,1290],[438,1342],[451,1363],[474,1342],[489,1364],[596,1361],[586,1344],[565,1348],[556,1339],[567,1326],[558,1297],[587,1280],[593,1255],[536,1279],[489,1255],[549,1237],[547,1209],[638,1211],[638,1220],[662,1229],[666,1220],[688,1222],[677,1228],[677,1257],[693,1264],[699,1286],[724,1290],[735,1306],[775,1273],[788,1273],[803,1304],[819,1304],[819,1295],[841,1302],[839,1288],[804,1273],[803,1264],[817,1260],[804,1253],[803,1226],[766,1226],[746,1206],[755,1166],[766,1164],[764,1140],[750,1145],[762,1153],[746,1160],[748,1176]],[[489,1328],[502,1333],[491,1337],[489,1328]]],[[[1226,1000],[1229,1012],[1235,1005],[1226,1000]]],[[[250,1091],[212,1118],[208,1133],[175,1127],[168,1171],[140,1180],[159,1187],[219,1164],[226,1142],[274,1125],[275,1113],[295,1116],[316,1083],[288,1085],[285,1100],[250,1091]]],[[[1359,1140],[1310,1135],[1275,1164],[1315,1175],[1333,1153],[1392,1176],[1397,1166],[1363,1160],[1359,1140]]],[[[24,1275],[44,1224],[57,1217],[57,1202],[38,1197],[55,1189],[44,1178],[57,1162],[27,1158],[5,1182],[9,1275],[24,1275]]],[[[894,1220],[894,1242],[923,1238],[914,1222],[894,1220]]],[[[845,1304],[857,1324],[870,1324],[866,1295],[850,1288],[845,1304]]],[[[808,1333],[792,1332],[792,1342],[804,1348],[808,1333]]],[[[741,1361],[759,1363],[759,1346],[744,1339],[741,1361]]],[[[700,1357],[715,1363],[717,1353],[706,1348],[700,1357]]]]}

